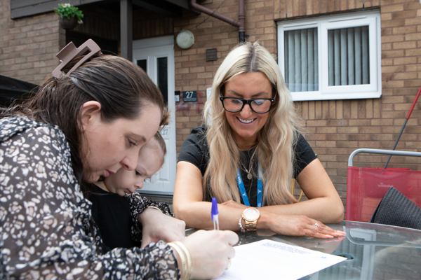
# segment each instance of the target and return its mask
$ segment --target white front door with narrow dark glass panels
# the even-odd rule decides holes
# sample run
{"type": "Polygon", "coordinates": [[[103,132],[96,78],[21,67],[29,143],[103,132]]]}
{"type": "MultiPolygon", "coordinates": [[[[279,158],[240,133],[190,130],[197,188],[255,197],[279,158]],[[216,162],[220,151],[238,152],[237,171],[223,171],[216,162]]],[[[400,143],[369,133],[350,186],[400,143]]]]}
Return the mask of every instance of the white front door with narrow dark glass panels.
{"type": "Polygon", "coordinates": [[[177,151],[175,148],[175,80],[174,80],[174,36],[164,36],[133,41],[133,63],[144,69],[161,90],[172,111],[171,123],[161,135],[166,142],[167,155],[163,167],[152,179],[145,181],[140,193],[149,195],[173,195],[177,151]]]}

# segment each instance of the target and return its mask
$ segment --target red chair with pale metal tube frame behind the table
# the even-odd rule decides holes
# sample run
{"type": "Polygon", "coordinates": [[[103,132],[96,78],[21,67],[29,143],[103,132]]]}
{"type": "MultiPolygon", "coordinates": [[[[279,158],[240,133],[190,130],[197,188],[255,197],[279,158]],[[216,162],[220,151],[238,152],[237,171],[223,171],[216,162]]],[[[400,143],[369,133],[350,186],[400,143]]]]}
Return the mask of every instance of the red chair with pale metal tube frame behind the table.
{"type": "Polygon", "coordinates": [[[347,221],[369,222],[380,200],[392,186],[421,207],[421,171],[353,167],[352,160],[358,153],[421,157],[421,153],[416,152],[368,148],[354,151],[348,160],[347,221]]]}

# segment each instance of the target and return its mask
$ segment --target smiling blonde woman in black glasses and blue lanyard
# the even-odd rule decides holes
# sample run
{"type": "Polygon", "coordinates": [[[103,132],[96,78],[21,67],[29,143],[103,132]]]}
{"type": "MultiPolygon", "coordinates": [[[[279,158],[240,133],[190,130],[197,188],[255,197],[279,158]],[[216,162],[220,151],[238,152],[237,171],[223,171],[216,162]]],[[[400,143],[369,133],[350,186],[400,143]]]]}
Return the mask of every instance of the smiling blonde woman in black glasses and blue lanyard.
{"type": "Polygon", "coordinates": [[[229,52],[215,74],[203,121],[182,144],[174,213],[189,228],[210,229],[210,200],[220,228],[332,238],[344,208],[328,174],[297,128],[279,66],[259,43],[229,52]],[[296,179],[309,200],[290,195],[296,179]]]}

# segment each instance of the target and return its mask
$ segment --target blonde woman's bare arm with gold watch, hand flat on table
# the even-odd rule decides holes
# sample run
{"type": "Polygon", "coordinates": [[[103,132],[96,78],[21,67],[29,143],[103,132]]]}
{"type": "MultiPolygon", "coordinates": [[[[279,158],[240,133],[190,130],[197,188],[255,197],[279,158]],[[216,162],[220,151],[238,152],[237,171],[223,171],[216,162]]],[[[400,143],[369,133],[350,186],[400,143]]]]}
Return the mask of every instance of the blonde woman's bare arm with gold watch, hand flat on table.
{"type": "MultiPolygon", "coordinates": [[[[189,162],[178,162],[175,179],[173,210],[176,218],[186,222],[187,228],[213,229],[210,202],[202,201],[202,176],[200,170],[189,162]]],[[[220,204],[221,230],[239,230],[243,209],[220,204]]],[[[307,235],[328,238],[341,235],[324,225],[314,227],[316,220],[306,216],[274,214],[261,211],[258,228],[267,228],[281,235],[307,235]]]]}

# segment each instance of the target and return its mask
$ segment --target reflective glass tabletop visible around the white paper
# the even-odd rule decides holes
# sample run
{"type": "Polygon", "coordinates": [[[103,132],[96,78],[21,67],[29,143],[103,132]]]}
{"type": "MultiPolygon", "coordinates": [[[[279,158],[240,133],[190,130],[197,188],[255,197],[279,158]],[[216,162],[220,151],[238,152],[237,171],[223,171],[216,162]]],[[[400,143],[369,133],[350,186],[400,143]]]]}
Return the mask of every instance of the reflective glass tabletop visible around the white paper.
{"type": "MultiPolygon", "coordinates": [[[[271,239],[348,258],[302,280],[421,279],[421,230],[348,221],[328,226],[347,232],[346,237],[286,237],[269,230],[236,233],[239,235],[238,245],[271,239]]],[[[186,235],[195,231],[186,230],[186,235]]],[[[282,272],[279,272],[279,279],[282,279],[282,272]]]]}

